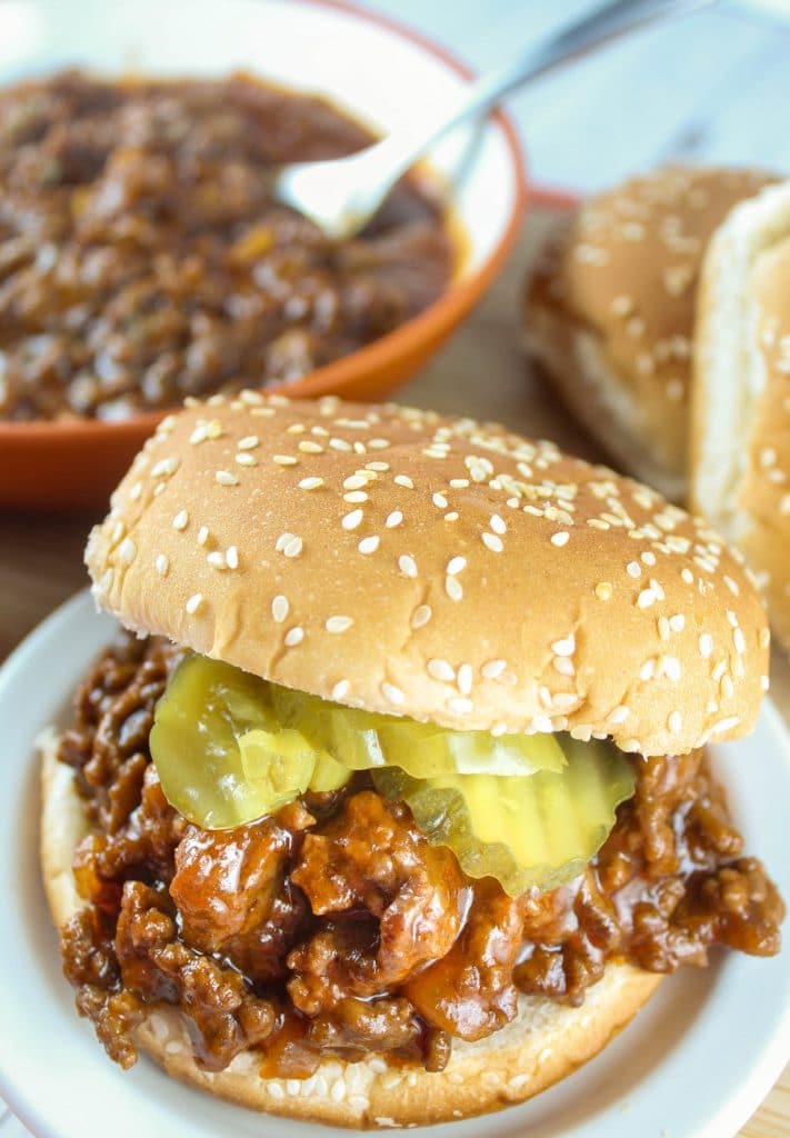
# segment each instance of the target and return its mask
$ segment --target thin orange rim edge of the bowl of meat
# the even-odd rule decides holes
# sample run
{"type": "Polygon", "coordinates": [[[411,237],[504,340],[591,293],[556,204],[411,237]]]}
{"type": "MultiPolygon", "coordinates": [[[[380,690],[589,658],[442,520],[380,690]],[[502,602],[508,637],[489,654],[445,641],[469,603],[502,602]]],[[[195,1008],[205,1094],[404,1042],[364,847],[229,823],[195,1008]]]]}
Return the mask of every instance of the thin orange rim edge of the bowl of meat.
{"type": "MultiPolygon", "coordinates": [[[[462,79],[469,81],[476,75],[472,67],[461,60],[453,51],[437,43],[429,35],[418,32],[409,24],[401,23],[381,13],[370,11],[361,7],[354,0],[296,0],[296,2],[307,6],[331,8],[340,13],[351,15],[357,19],[365,20],[386,28],[394,35],[418,44],[427,53],[433,55],[443,63],[450,71],[455,72],[462,79]]],[[[504,230],[496,242],[493,251],[486,257],[484,263],[469,277],[458,281],[451,280],[444,291],[427,308],[412,316],[405,323],[395,328],[392,332],[380,336],[371,344],[341,356],[331,363],[323,364],[303,378],[288,384],[271,384],[265,390],[269,394],[288,394],[294,398],[316,397],[321,395],[335,394],[346,385],[359,384],[365,374],[377,371],[379,368],[390,363],[393,358],[409,356],[419,349],[426,339],[433,335],[441,336],[449,331],[460,321],[472,307],[476,299],[485,291],[486,287],[500,271],[510,253],[518,236],[524,212],[527,205],[528,182],[524,150],[518,137],[518,131],[509,115],[497,107],[488,116],[500,127],[510,160],[513,179],[515,193],[510,214],[507,218],[504,230]]],[[[106,419],[35,419],[35,420],[0,420],[0,444],[16,443],[23,440],[32,444],[44,440],[52,442],[55,438],[72,442],[85,440],[100,431],[105,438],[115,438],[122,442],[125,438],[137,438],[145,430],[150,434],[166,415],[178,411],[180,404],[170,407],[161,407],[155,411],[143,411],[129,419],[106,420],[106,419]]]]}

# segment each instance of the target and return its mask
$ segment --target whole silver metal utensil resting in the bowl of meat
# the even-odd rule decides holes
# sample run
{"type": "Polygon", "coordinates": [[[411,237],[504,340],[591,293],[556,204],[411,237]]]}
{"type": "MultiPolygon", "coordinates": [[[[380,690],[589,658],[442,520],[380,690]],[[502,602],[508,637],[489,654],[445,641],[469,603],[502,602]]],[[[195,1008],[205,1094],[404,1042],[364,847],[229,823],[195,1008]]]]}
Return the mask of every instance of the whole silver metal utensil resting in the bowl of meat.
{"type": "Polygon", "coordinates": [[[395,182],[436,140],[466,118],[488,110],[515,88],[600,47],[641,24],[676,11],[702,8],[715,0],[615,0],[563,31],[528,48],[517,59],[484,75],[447,110],[426,110],[417,130],[329,162],[285,166],[274,179],[274,196],[314,222],[329,238],[353,237],[370,221],[395,182]]]}

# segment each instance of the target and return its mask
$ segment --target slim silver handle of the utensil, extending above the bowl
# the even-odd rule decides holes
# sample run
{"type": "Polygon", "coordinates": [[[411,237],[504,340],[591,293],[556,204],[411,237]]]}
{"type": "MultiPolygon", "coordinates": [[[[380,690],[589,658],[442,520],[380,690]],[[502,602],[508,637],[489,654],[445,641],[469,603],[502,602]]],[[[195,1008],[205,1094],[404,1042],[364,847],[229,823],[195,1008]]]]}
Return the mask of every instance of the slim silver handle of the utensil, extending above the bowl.
{"type": "Polygon", "coordinates": [[[669,16],[674,13],[691,11],[703,8],[716,0],[614,0],[596,8],[590,15],[575,24],[570,24],[536,44],[532,44],[516,59],[504,64],[487,75],[484,75],[469,88],[467,97],[455,104],[450,114],[442,113],[435,124],[426,124],[419,130],[419,140],[414,134],[397,134],[384,139],[375,149],[379,152],[385,147],[393,167],[402,172],[436,140],[456,126],[466,118],[488,110],[503,96],[536,79],[554,67],[601,47],[640,24],[669,16]]]}

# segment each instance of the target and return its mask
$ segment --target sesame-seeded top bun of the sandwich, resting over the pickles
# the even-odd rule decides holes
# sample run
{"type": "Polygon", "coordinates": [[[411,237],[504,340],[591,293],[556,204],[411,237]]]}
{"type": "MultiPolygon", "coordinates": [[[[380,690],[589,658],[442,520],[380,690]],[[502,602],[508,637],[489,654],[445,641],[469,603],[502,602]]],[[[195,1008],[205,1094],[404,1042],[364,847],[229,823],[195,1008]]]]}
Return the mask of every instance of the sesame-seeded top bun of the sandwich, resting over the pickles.
{"type": "Polygon", "coordinates": [[[96,527],[97,600],[287,687],[683,753],[747,733],[768,634],[655,490],[501,427],[242,393],[171,415],[96,527]]]}

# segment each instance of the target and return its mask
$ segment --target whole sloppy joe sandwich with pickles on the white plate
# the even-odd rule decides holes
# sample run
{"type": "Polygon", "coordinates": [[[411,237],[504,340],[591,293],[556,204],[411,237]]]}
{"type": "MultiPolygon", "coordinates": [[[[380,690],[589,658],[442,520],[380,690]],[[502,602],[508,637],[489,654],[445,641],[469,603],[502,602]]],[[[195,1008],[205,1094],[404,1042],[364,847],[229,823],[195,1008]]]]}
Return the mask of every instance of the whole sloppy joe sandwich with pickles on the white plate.
{"type": "Polygon", "coordinates": [[[450,1120],[568,1074],[680,964],[777,951],[705,752],[752,727],[765,617],[656,492],[245,393],[162,423],[87,562],[126,632],[47,748],[42,863],[122,1066],[450,1120]]]}

